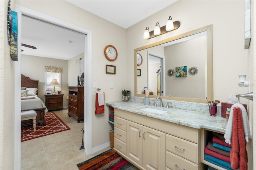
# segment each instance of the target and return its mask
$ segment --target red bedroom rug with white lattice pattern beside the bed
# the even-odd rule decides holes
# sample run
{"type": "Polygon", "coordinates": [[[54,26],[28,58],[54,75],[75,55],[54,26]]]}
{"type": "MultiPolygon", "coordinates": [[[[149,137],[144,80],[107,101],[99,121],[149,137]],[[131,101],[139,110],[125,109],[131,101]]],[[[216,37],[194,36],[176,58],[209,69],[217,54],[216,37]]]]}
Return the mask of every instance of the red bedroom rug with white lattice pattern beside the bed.
{"type": "Polygon", "coordinates": [[[33,131],[33,127],[21,128],[21,141],[26,141],[48,134],[62,132],[64,130],[69,130],[70,127],[66,125],[55,113],[49,112],[44,115],[45,124],[36,125],[36,132],[33,131]]]}

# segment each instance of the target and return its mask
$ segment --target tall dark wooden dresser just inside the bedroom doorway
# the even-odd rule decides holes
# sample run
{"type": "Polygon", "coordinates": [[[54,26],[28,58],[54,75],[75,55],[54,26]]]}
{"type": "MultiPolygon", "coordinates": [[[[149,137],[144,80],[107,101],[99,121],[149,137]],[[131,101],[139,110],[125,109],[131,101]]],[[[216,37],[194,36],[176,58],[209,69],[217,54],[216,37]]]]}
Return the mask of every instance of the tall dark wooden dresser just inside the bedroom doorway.
{"type": "Polygon", "coordinates": [[[84,87],[68,86],[68,116],[77,122],[84,120],[84,87]]]}

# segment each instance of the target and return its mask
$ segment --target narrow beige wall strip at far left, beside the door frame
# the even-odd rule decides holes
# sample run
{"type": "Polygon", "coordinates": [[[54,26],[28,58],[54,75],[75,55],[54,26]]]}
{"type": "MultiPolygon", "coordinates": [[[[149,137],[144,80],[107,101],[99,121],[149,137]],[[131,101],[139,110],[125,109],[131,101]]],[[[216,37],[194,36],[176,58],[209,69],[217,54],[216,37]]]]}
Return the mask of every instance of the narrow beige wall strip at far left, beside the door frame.
{"type": "Polygon", "coordinates": [[[0,1],[0,169],[14,169],[14,65],[7,41],[8,1],[0,1]]]}

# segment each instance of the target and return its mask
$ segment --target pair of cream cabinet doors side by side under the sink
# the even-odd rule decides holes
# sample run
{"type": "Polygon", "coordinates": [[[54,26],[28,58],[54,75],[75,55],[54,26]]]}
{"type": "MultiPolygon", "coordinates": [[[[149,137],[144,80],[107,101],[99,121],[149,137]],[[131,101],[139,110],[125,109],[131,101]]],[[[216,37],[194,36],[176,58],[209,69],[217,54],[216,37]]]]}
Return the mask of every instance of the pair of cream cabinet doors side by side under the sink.
{"type": "Polygon", "coordinates": [[[127,156],[145,169],[165,169],[165,133],[127,121],[127,156]]]}

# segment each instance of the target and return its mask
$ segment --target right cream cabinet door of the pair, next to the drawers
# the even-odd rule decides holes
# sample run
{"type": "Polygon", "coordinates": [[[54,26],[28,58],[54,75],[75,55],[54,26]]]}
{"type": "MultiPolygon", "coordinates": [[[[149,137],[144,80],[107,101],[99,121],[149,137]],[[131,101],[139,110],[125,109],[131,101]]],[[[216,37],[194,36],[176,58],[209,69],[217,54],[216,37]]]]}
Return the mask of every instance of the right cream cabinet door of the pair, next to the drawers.
{"type": "Polygon", "coordinates": [[[143,167],[147,170],[165,169],[165,133],[143,127],[143,167]]]}

